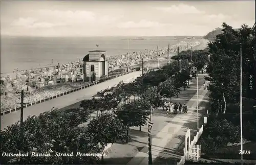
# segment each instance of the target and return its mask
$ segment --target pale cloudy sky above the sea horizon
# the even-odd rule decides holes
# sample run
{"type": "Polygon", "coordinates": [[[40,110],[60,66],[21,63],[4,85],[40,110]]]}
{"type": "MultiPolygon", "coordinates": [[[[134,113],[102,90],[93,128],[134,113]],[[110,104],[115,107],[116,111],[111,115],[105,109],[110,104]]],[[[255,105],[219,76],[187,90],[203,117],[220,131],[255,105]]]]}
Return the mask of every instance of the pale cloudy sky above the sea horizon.
{"type": "Polygon", "coordinates": [[[253,26],[255,1],[1,1],[1,35],[199,36],[253,26]]]}

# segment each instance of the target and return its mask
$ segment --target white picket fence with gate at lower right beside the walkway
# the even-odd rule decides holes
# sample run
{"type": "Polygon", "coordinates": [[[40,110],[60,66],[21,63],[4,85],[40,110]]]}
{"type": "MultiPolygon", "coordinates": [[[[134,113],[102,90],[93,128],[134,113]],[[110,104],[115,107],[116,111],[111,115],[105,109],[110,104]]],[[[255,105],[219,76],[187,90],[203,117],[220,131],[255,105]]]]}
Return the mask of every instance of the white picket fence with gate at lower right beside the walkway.
{"type": "MultiPolygon", "coordinates": [[[[194,139],[191,141],[191,143],[188,143],[188,151],[186,146],[183,148],[183,156],[181,156],[180,161],[177,163],[177,165],[183,165],[186,160],[193,160],[193,161],[199,161],[200,156],[201,156],[201,146],[200,145],[195,145],[198,142],[198,139],[203,133],[204,126],[199,129],[197,132],[196,136],[194,136],[194,139]]],[[[190,129],[187,130],[186,136],[189,136],[189,141],[190,141],[190,129]]],[[[187,140],[187,139],[185,139],[187,140]]],[[[185,145],[187,145],[185,143],[185,145]]]]}

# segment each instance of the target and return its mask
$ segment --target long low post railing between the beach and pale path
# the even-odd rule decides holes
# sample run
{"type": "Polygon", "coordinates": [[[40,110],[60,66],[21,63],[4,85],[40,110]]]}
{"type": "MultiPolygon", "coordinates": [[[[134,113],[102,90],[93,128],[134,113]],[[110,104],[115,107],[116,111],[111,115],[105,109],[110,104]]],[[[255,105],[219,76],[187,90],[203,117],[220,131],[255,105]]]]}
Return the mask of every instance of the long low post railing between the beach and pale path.
{"type": "MultiPolygon", "coordinates": [[[[127,74],[130,74],[134,72],[133,71],[130,71],[130,72],[126,72],[126,73],[122,73],[122,74],[119,74],[119,75],[116,75],[116,76],[113,76],[111,77],[110,79],[108,80],[111,80],[111,79],[114,79],[114,78],[117,78],[117,77],[120,77],[120,76],[123,76],[123,75],[127,75],[127,74]]],[[[29,104],[24,104],[24,107],[23,108],[27,108],[27,107],[30,107],[30,106],[33,106],[33,105],[36,105],[36,104],[39,104],[39,103],[43,103],[43,102],[46,102],[46,101],[49,101],[49,100],[52,100],[52,99],[55,99],[55,98],[59,98],[61,96],[65,96],[65,95],[68,95],[69,93],[72,93],[72,92],[75,92],[75,91],[78,91],[78,90],[81,90],[81,89],[84,89],[84,88],[88,88],[90,86],[93,86],[93,85],[96,85],[96,84],[99,84],[99,80],[97,81],[94,81],[93,83],[91,84],[88,84],[88,85],[83,85],[83,86],[80,86],[80,87],[77,87],[77,88],[74,88],[74,89],[71,89],[69,91],[65,91],[65,92],[59,92],[57,95],[55,96],[49,96],[45,99],[42,99],[42,100],[35,100],[34,102],[32,103],[29,103],[29,104]]],[[[15,112],[17,110],[20,110],[22,107],[15,107],[13,109],[9,109],[9,110],[5,110],[3,112],[1,112],[1,115],[5,115],[5,114],[8,114],[8,113],[11,113],[11,112],[15,112]]]]}

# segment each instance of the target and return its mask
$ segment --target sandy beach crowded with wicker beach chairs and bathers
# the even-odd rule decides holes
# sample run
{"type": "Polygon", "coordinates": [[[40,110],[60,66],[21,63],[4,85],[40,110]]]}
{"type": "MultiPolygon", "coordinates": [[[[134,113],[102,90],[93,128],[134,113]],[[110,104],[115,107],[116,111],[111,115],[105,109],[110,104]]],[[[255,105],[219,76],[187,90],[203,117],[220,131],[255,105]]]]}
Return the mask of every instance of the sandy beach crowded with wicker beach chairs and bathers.
{"type": "MultiPolygon", "coordinates": [[[[194,40],[192,43],[190,43],[190,45],[193,46],[193,50],[204,49],[207,47],[207,40],[197,39],[197,40],[194,40]]],[[[169,53],[172,55],[176,54],[178,46],[179,46],[180,52],[190,49],[190,46],[189,47],[187,46],[186,41],[181,41],[176,45],[170,46],[169,53]]],[[[148,50],[145,52],[133,52],[131,54],[115,56],[110,59],[111,67],[109,68],[109,71],[115,70],[117,68],[140,64],[142,58],[144,59],[145,62],[148,61],[148,64],[145,64],[147,67],[155,68],[158,65],[157,55],[158,54],[160,55],[158,61],[159,61],[159,65],[161,66],[167,63],[167,53],[168,53],[168,48],[159,48],[159,52],[157,52],[157,50],[148,50]]],[[[73,82],[66,81],[63,83],[56,83],[56,80],[54,80],[54,77],[52,77],[51,81],[55,81],[53,85],[47,85],[40,88],[33,87],[31,83],[27,85],[26,80],[28,79],[28,77],[30,76],[30,81],[32,81],[31,75],[36,75],[35,74],[36,72],[39,75],[44,74],[46,77],[52,76],[54,73],[54,70],[46,71],[46,70],[38,70],[38,69],[29,69],[29,70],[24,70],[23,72],[19,72],[18,77],[17,77],[17,73],[7,74],[9,75],[8,76],[9,78],[6,77],[7,75],[5,75],[6,77],[5,81],[2,81],[2,84],[1,84],[1,112],[15,108],[15,107],[20,107],[19,105],[20,94],[16,94],[15,92],[20,91],[22,89],[24,89],[25,91],[27,90],[29,91],[29,93],[26,94],[24,98],[24,102],[31,103],[31,102],[34,102],[35,100],[41,100],[44,98],[55,96],[59,92],[68,91],[78,86],[88,84],[87,82],[85,83],[75,82],[74,75],[80,74],[78,69],[78,65],[80,63],[81,61],[77,62],[76,64],[60,65],[61,67],[58,68],[58,72],[62,73],[62,78],[65,77],[66,80],[68,78],[69,79],[72,78],[73,82]],[[23,74],[27,76],[24,76],[23,74]]],[[[38,81],[36,79],[38,79],[39,77],[37,76],[36,78],[34,78],[35,79],[34,81],[38,81]]],[[[4,80],[3,77],[1,78],[1,80],[4,80]]],[[[46,79],[44,81],[47,83],[49,82],[49,80],[46,80],[46,79]]]]}

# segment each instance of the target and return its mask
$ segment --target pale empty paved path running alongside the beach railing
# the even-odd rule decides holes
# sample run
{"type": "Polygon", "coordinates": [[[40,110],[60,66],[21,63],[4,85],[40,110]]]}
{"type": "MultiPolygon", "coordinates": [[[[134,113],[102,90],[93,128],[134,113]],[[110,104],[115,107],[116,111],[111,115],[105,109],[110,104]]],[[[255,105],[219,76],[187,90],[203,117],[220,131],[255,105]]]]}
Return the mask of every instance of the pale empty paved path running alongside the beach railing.
{"type": "MultiPolygon", "coordinates": [[[[59,98],[40,103],[31,107],[27,107],[24,109],[24,120],[27,119],[28,116],[39,115],[42,112],[51,110],[52,107],[56,108],[64,108],[70,105],[78,105],[80,101],[86,99],[92,99],[94,95],[96,95],[97,91],[104,90],[108,86],[115,85],[120,81],[125,81],[130,79],[131,77],[137,77],[141,75],[141,72],[133,72],[131,74],[127,74],[109,81],[102,82],[100,84],[70,93],[69,95],[61,96],[59,98]]],[[[6,114],[1,116],[1,130],[6,128],[7,126],[16,123],[20,120],[20,110],[6,114]]]]}

